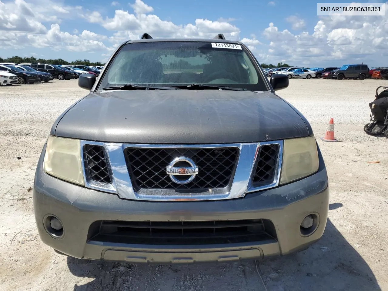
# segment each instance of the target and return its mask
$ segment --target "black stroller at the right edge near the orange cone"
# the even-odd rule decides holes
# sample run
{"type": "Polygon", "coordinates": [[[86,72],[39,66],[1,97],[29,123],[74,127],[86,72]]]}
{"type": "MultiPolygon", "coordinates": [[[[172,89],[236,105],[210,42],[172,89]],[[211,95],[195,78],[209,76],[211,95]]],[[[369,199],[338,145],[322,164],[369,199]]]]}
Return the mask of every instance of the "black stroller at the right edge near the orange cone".
{"type": "Polygon", "coordinates": [[[371,123],[364,126],[364,131],[369,135],[385,135],[388,138],[388,87],[379,86],[376,89],[375,99],[369,103],[371,108],[371,123]],[[378,94],[379,88],[385,90],[378,94]]]}

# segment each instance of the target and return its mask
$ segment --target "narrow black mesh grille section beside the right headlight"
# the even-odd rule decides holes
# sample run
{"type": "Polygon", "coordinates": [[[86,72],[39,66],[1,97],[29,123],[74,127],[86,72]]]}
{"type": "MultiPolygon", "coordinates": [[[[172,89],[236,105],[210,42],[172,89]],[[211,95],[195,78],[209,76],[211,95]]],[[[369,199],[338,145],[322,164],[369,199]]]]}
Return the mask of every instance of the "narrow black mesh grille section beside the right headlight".
{"type": "Polygon", "coordinates": [[[254,187],[268,185],[274,181],[278,156],[278,144],[260,146],[255,174],[252,180],[254,187]]]}

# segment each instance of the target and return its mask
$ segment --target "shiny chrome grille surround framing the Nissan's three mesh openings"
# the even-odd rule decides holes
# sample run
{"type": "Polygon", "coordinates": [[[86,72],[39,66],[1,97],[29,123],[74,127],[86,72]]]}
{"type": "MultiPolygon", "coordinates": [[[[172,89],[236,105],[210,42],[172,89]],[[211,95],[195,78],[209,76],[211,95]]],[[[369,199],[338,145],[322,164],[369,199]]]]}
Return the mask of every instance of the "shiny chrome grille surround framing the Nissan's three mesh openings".
{"type": "Polygon", "coordinates": [[[235,199],[244,197],[246,193],[253,191],[260,191],[276,187],[279,185],[279,178],[282,164],[283,142],[253,142],[241,144],[121,144],[121,143],[105,143],[105,142],[90,142],[81,140],[81,159],[83,166],[83,175],[85,179],[85,187],[118,194],[123,199],[132,200],[149,200],[149,201],[203,201],[203,200],[223,200],[235,199]],[[100,145],[106,149],[107,160],[111,167],[113,182],[112,184],[96,183],[91,181],[85,173],[85,161],[83,159],[83,146],[85,144],[100,145]],[[255,170],[256,159],[261,145],[279,144],[279,158],[277,159],[277,166],[275,171],[274,182],[270,185],[253,188],[251,181],[253,178],[253,171],[255,170]],[[124,149],[127,147],[134,148],[166,148],[166,149],[182,149],[182,148],[217,148],[217,147],[238,147],[240,149],[237,158],[236,171],[230,179],[229,185],[218,189],[204,189],[204,192],[187,191],[178,192],[175,190],[163,189],[140,189],[134,191],[128,168],[126,166],[124,149]]]}

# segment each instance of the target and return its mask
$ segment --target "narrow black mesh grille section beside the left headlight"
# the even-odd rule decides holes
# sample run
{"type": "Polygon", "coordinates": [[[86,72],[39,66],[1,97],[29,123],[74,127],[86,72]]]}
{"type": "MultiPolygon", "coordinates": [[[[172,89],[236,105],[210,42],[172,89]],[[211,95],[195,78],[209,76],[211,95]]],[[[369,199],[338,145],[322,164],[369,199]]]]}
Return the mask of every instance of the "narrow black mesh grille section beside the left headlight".
{"type": "Polygon", "coordinates": [[[112,183],[109,167],[105,156],[104,147],[101,145],[85,145],[86,169],[90,179],[95,182],[112,183]]]}

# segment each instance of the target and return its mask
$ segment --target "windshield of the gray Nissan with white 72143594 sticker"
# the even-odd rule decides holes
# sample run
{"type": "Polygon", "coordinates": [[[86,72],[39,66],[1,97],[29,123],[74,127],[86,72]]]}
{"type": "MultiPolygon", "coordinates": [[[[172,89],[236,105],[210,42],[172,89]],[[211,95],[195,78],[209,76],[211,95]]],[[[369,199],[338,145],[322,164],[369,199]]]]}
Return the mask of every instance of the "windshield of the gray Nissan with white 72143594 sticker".
{"type": "Polygon", "coordinates": [[[106,69],[98,90],[125,84],[175,87],[193,83],[267,91],[239,45],[210,42],[128,43],[106,69]],[[232,48],[234,47],[234,48],[232,48]]]}

